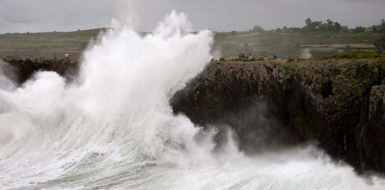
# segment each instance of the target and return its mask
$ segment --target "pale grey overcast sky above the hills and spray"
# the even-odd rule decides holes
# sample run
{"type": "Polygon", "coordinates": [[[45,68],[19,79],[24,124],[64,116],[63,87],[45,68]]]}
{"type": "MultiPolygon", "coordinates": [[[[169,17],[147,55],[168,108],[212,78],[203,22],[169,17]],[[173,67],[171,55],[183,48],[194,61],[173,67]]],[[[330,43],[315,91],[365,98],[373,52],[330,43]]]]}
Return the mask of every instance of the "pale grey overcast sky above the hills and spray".
{"type": "Polygon", "coordinates": [[[217,31],[302,26],[307,17],[349,27],[385,18],[385,0],[0,0],[0,33],[106,27],[128,16],[150,31],[173,9],[187,13],[195,29],[217,31]]]}

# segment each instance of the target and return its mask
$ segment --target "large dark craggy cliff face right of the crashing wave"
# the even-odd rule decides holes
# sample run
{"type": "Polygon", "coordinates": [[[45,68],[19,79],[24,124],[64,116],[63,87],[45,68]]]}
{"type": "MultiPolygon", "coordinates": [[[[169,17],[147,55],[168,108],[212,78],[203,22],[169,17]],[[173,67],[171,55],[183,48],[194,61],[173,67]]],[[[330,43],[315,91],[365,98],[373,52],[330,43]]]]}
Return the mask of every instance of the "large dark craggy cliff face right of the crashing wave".
{"type": "Polygon", "coordinates": [[[213,62],[171,105],[230,125],[246,151],[316,141],[358,172],[385,172],[384,74],[383,59],[213,62]]]}

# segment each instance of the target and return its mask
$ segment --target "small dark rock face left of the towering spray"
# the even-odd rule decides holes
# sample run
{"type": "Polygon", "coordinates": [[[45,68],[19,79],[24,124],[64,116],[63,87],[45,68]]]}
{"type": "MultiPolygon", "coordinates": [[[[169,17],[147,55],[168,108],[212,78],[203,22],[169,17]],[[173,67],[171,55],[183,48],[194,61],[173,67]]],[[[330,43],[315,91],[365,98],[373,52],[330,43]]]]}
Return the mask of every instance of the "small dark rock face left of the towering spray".
{"type": "Polygon", "coordinates": [[[38,70],[55,71],[65,77],[67,81],[71,81],[77,75],[79,69],[78,62],[68,59],[3,57],[1,60],[9,63],[10,69],[15,74],[12,77],[20,84],[38,70]]]}

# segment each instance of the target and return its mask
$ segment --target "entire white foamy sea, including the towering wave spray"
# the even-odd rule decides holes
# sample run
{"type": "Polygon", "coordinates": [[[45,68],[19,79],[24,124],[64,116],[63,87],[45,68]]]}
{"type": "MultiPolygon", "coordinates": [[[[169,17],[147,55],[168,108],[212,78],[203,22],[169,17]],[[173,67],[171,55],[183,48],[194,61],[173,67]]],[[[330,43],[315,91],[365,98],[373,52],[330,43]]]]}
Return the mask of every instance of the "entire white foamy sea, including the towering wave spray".
{"type": "MultiPolygon", "coordinates": [[[[313,146],[243,155],[228,132],[173,115],[169,99],[210,61],[213,34],[171,12],[154,32],[111,29],[78,81],[0,74],[1,189],[383,189],[313,146]]],[[[3,69],[1,63],[0,69],[3,69]]]]}

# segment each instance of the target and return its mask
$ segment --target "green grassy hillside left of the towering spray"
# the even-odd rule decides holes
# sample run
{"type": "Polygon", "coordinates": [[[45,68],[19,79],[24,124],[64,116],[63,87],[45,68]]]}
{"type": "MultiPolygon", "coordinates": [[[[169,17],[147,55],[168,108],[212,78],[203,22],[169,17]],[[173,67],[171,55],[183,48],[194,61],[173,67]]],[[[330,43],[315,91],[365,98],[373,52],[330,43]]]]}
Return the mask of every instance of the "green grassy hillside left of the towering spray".
{"type": "Polygon", "coordinates": [[[105,28],[72,32],[6,33],[0,34],[0,57],[64,57],[65,52],[77,59],[90,39],[105,28]]]}

